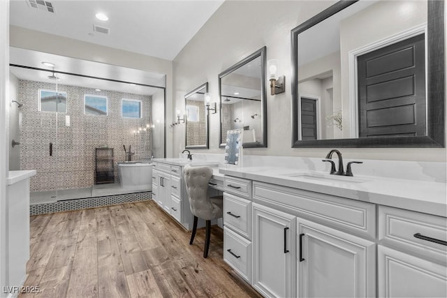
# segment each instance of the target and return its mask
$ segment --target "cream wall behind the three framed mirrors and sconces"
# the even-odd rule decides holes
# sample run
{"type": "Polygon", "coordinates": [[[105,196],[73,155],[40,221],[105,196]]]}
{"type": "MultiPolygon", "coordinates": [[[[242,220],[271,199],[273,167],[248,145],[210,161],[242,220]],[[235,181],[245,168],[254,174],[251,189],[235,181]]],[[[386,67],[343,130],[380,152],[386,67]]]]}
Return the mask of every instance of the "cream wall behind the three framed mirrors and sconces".
{"type": "MultiPolygon", "coordinates": [[[[173,61],[174,104],[182,107],[184,95],[209,82],[214,100],[219,99],[218,74],[267,46],[267,60],[279,59],[279,75],[286,75],[286,92],[268,91],[268,148],[244,149],[244,154],[272,156],[325,156],[328,149],[291,148],[291,29],[335,1],[225,1],[173,61]]],[[[170,112],[173,114],[173,110],[170,112]]],[[[219,149],[219,114],[210,117],[210,149],[219,149]]],[[[173,131],[174,156],[184,147],[184,126],[173,131]]],[[[196,150],[199,152],[199,150],[196,150]]],[[[346,158],[397,161],[446,161],[446,149],[342,149],[346,158]]]]}

